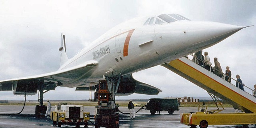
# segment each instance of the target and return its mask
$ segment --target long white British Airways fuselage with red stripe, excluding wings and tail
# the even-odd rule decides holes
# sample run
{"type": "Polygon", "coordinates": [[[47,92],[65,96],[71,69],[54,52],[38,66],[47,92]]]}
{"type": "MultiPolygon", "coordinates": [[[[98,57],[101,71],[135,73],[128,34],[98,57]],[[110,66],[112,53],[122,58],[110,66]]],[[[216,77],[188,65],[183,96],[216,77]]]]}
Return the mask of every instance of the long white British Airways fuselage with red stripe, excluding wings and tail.
{"type": "Polygon", "coordinates": [[[208,48],[242,29],[229,24],[189,20],[143,25],[146,20],[147,17],[133,19],[112,28],[59,70],[95,60],[98,65],[81,81],[97,82],[103,75],[130,74],[208,48]]]}

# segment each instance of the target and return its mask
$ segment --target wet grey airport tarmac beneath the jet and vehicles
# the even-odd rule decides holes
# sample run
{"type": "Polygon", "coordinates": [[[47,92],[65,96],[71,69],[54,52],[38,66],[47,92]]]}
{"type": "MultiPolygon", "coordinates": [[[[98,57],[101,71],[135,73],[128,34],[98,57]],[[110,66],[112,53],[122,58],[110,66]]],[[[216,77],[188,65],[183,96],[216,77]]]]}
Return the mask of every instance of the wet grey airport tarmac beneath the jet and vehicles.
{"type": "MultiPolygon", "coordinates": [[[[23,106],[0,106],[0,128],[50,128],[53,127],[50,118],[35,118],[35,106],[25,106],[23,112],[18,115],[2,115],[3,113],[18,113],[23,106]]],[[[92,123],[94,123],[94,106],[85,106],[85,111],[90,112],[92,123]]],[[[140,107],[136,107],[135,111],[140,107]]],[[[214,108],[208,108],[210,110],[214,108]]],[[[52,108],[54,110],[54,106],[52,108]]],[[[119,107],[124,113],[129,113],[127,107],[119,107]]],[[[136,113],[136,118],[130,120],[129,114],[120,114],[120,128],[190,128],[184,124],[180,124],[180,113],[196,112],[196,107],[180,107],[180,111],[174,111],[170,115],[163,111],[160,115],[151,115],[148,110],[140,110],[136,113]]],[[[233,108],[225,108],[223,112],[234,112],[233,108]]],[[[232,119],[230,119],[232,120],[232,119]]],[[[88,123],[89,128],[94,128],[94,124],[88,123]]],[[[74,125],[62,125],[62,128],[74,128],[74,125]]],[[[82,128],[83,126],[80,125],[82,128]]],[[[197,126],[199,128],[199,126],[197,126]]],[[[208,128],[243,128],[242,125],[214,125],[208,128]]],[[[247,128],[256,128],[255,125],[249,125],[247,128]]]]}

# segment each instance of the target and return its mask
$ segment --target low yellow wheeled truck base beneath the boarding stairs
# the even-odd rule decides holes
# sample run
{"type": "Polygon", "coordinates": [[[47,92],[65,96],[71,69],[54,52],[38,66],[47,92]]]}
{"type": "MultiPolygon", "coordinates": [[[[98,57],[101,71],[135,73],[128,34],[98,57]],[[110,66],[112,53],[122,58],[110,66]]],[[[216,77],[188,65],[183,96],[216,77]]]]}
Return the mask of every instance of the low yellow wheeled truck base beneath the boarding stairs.
{"type": "Polygon", "coordinates": [[[204,105],[204,107],[200,109],[200,106],[198,106],[200,112],[181,113],[180,123],[191,127],[198,125],[200,128],[207,128],[208,125],[256,125],[255,113],[218,113],[221,110],[208,111],[207,105],[204,105]]]}

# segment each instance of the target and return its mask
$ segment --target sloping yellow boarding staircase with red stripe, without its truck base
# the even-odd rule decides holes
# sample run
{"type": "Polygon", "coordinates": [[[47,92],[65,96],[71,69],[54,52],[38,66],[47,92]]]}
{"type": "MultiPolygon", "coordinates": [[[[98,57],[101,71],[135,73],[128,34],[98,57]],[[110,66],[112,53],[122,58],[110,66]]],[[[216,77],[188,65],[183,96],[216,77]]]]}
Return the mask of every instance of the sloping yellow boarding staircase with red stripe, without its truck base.
{"type": "Polygon", "coordinates": [[[191,60],[182,57],[171,61],[169,64],[162,64],[162,66],[204,90],[215,94],[222,100],[232,104],[234,108],[238,108],[245,113],[256,113],[256,98],[254,96],[240,90],[191,60]]]}

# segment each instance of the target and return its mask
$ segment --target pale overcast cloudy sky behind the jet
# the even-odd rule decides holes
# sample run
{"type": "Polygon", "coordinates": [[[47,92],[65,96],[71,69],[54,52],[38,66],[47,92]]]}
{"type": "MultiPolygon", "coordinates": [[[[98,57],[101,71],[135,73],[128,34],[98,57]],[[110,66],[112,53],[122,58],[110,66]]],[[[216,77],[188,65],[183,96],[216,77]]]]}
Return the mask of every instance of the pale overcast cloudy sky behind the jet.
{"type": "MultiPolygon", "coordinates": [[[[247,86],[256,84],[256,0],[1,0],[0,80],[58,70],[60,34],[66,35],[68,57],[117,24],[161,13],[176,13],[190,20],[221,22],[244,28],[208,51],[223,72],[230,67],[247,86]]],[[[160,88],[158,95],[132,94],[116,99],[210,97],[208,93],[162,66],[134,73],[137,80],[160,88]]],[[[234,82],[234,81],[233,81],[234,82]]],[[[88,99],[89,92],[57,87],[44,99],[88,99]]],[[[252,92],[249,92],[252,93],[252,92]]],[[[0,100],[23,100],[12,91],[0,91],[0,100]]],[[[38,95],[28,96],[37,100],[38,95]]]]}

